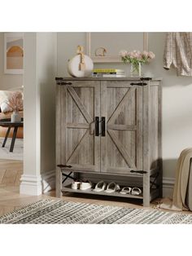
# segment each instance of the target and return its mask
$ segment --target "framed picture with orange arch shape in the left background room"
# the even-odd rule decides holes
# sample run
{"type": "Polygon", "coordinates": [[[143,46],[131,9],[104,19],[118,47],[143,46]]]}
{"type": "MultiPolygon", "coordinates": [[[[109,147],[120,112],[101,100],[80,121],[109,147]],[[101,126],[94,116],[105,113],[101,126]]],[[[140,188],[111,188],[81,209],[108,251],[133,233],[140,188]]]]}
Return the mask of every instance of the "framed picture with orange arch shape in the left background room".
{"type": "Polygon", "coordinates": [[[4,33],[4,73],[24,73],[24,33],[4,33]]]}

